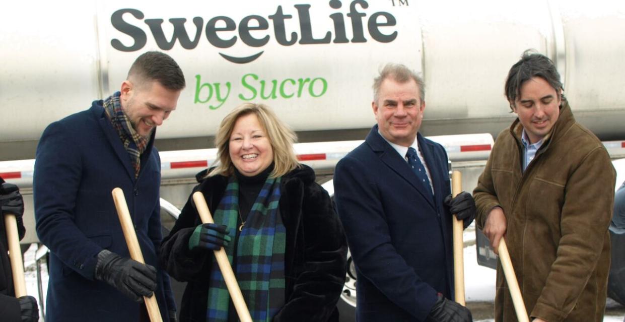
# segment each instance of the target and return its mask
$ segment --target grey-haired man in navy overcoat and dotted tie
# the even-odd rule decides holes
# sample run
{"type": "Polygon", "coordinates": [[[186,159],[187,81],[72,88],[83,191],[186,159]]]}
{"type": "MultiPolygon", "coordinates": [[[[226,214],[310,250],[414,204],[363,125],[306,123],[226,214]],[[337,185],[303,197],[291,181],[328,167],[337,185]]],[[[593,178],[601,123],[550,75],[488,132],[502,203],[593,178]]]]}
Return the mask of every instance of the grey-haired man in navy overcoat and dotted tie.
{"type": "Polygon", "coordinates": [[[357,273],[357,321],[472,321],[452,301],[452,217],[468,226],[469,193],[451,198],[447,154],[418,133],[422,79],[387,64],[374,80],[373,126],[336,166],[339,216],[357,273]]]}

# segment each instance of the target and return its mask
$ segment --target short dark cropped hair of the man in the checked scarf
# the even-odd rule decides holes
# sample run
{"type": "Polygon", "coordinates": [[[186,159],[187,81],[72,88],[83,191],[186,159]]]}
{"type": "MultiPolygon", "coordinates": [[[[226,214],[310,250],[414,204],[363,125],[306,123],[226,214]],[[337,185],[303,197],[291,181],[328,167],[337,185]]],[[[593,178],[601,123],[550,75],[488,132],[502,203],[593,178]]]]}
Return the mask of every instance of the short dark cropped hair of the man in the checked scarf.
{"type": "Polygon", "coordinates": [[[186,86],[184,74],[171,56],[160,51],[141,54],[128,71],[128,79],[136,76],[146,81],[158,81],[164,88],[180,91],[186,86]]]}

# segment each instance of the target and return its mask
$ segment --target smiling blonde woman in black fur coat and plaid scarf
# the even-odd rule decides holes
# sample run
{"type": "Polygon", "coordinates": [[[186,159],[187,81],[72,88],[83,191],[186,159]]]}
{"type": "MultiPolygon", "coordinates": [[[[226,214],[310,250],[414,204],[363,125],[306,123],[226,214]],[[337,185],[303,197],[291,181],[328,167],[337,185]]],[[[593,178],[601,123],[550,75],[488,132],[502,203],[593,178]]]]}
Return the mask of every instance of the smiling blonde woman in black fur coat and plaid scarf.
{"type": "Polygon", "coordinates": [[[329,195],[297,162],[295,139],[262,104],[221,122],[219,164],[193,189],[215,224],[202,224],[189,198],[161,248],[169,274],[189,282],[182,321],[238,321],[212,255],[221,247],[254,321],[338,321],[347,243],[329,195]]]}

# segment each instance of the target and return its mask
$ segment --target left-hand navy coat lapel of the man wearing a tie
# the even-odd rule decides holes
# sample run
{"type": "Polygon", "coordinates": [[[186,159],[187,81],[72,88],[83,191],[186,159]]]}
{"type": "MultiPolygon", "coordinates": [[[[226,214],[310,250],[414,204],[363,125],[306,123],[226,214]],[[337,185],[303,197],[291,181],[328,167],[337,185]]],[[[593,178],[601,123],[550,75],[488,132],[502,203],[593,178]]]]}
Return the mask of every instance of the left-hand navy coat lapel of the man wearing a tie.
{"type": "MultiPolygon", "coordinates": [[[[402,158],[395,149],[392,148],[390,144],[388,144],[380,134],[377,133],[377,125],[371,129],[369,135],[365,139],[367,144],[371,147],[371,149],[377,154],[382,163],[386,164],[389,168],[392,169],[395,173],[397,173],[401,178],[406,180],[414,189],[416,189],[419,194],[421,194],[423,199],[427,200],[432,208],[434,204],[432,204],[431,192],[427,191],[426,186],[419,182],[419,178],[417,178],[416,174],[412,172],[410,166],[406,162],[406,159],[402,158]]],[[[427,162],[427,161],[426,161],[427,162]]],[[[372,169],[375,171],[375,169],[372,169]]]]}

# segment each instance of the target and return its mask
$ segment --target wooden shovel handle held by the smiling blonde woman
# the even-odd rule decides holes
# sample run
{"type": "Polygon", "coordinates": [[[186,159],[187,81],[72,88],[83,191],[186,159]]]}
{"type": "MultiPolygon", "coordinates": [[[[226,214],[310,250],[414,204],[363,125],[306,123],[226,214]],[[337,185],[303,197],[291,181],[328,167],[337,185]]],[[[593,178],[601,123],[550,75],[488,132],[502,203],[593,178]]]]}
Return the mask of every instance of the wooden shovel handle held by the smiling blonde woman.
{"type": "MultiPolygon", "coordinates": [[[[202,223],[214,224],[211,211],[208,209],[206,199],[204,199],[204,194],[197,191],[193,194],[193,201],[196,204],[197,213],[199,213],[199,218],[202,223]]],[[[243,299],[243,294],[241,293],[239,284],[234,277],[234,272],[232,271],[232,266],[230,266],[230,261],[228,261],[226,251],[224,248],[220,248],[219,250],[214,251],[214,253],[219,269],[221,270],[221,274],[224,276],[224,281],[226,281],[226,286],[228,288],[228,292],[230,293],[230,298],[232,298],[232,303],[234,304],[236,313],[239,315],[239,319],[241,319],[241,322],[252,322],[252,316],[249,315],[249,310],[247,309],[247,305],[243,299]]]]}

